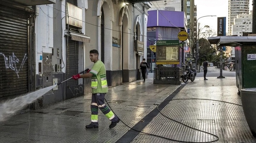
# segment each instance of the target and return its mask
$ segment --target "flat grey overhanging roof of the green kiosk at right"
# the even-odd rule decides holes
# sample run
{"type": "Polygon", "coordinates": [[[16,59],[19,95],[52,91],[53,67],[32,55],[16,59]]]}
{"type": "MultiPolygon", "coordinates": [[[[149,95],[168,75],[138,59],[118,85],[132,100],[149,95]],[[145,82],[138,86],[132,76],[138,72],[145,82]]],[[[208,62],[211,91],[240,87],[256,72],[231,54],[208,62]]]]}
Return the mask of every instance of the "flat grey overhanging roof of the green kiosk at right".
{"type": "Polygon", "coordinates": [[[256,36],[217,36],[208,37],[208,40],[210,44],[216,44],[217,46],[236,47],[256,43],[256,36]]]}

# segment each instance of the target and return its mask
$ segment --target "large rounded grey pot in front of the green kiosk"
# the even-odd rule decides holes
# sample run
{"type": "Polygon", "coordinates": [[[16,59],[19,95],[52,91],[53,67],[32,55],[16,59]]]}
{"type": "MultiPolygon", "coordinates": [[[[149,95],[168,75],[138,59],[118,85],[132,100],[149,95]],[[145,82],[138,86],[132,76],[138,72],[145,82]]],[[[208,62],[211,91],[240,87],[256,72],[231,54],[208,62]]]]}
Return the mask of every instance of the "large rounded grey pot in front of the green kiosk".
{"type": "Polygon", "coordinates": [[[247,124],[256,137],[256,88],[241,89],[241,100],[247,124]]]}

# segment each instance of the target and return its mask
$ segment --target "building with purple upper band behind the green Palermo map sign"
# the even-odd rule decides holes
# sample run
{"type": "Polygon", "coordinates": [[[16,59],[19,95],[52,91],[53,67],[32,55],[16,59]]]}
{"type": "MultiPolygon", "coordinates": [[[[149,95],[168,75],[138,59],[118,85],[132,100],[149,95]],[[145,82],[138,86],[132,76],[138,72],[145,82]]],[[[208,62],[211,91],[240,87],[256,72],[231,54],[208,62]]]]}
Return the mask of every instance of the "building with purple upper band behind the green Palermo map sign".
{"type": "MultiPolygon", "coordinates": [[[[157,40],[178,40],[178,33],[180,31],[187,31],[187,20],[185,12],[182,11],[168,11],[168,10],[151,10],[149,13],[149,20],[147,23],[147,37],[148,39],[157,40]]],[[[181,42],[181,41],[180,41],[181,42]]],[[[150,43],[147,43],[148,55],[151,52],[149,48],[150,43]]],[[[186,43],[183,45],[186,46],[186,43]]],[[[179,46],[177,58],[179,59],[179,64],[176,66],[182,67],[185,59],[185,50],[182,44],[179,46]]],[[[148,57],[147,62],[151,62],[152,68],[155,66],[152,63],[155,61],[150,61],[148,57]]],[[[154,59],[154,58],[153,58],[154,59]]],[[[151,59],[151,60],[153,60],[151,59]]],[[[174,67],[175,65],[168,65],[174,67]]]]}

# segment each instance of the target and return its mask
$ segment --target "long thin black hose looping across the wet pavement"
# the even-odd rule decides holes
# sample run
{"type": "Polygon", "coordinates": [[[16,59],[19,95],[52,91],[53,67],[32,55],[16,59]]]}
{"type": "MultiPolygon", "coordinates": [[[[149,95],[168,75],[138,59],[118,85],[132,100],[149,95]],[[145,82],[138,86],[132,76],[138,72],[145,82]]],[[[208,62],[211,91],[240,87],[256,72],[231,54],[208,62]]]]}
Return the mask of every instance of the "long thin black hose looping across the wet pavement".
{"type": "MultiPolygon", "coordinates": [[[[184,99],[171,99],[171,100],[212,100],[212,99],[184,98],[184,99]]],[[[160,104],[162,104],[163,102],[166,102],[166,101],[171,101],[171,100],[164,100],[164,101],[162,101],[160,104]]],[[[111,107],[110,107],[110,105],[108,104],[106,98],[105,98],[105,101],[106,101],[107,105],[109,106],[109,108],[111,109],[111,107]]],[[[218,102],[224,102],[224,103],[229,103],[229,104],[234,104],[234,105],[242,106],[242,105],[239,105],[239,104],[236,104],[236,103],[230,103],[230,102],[226,102],[226,101],[220,101],[220,100],[212,100],[212,101],[218,101],[218,102]]],[[[159,104],[159,105],[160,105],[160,104],[159,104]]],[[[157,106],[157,110],[158,110],[158,111],[160,112],[160,114],[162,114],[164,117],[166,117],[166,118],[168,118],[168,119],[170,119],[170,120],[173,120],[173,121],[175,121],[175,122],[178,122],[178,123],[180,123],[180,124],[182,124],[182,125],[184,125],[184,126],[187,126],[187,127],[189,127],[189,128],[192,128],[192,129],[194,129],[194,130],[201,131],[201,132],[203,132],[203,133],[207,133],[207,134],[212,135],[212,136],[214,136],[214,137],[217,138],[217,139],[215,139],[215,140],[213,140],[213,141],[208,141],[208,142],[216,142],[216,141],[218,141],[219,137],[216,136],[216,135],[214,135],[214,134],[212,134],[212,133],[208,133],[208,132],[206,132],[206,131],[202,131],[202,130],[199,130],[199,129],[190,127],[190,126],[188,126],[188,125],[183,124],[182,122],[179,122],[179,121],[176,121],[176,120],[174,120],[174,119],[171,119],[171,118],[167,117],[166,115],[164,115],[164,114],[158,109],[159,105],[157,106]]],[[[113,109],[111,109],[111,110],[113,111],[113,109]]],[[[114,111],[113,111],[113,113],[115,114],[114,111]]],[[[115,116],[116,116],[122,123],[124,123],[116,114],[115,114],[115,116]]],[[[138,131],[138,130],[135,130],[135,129],[129,127],[129,126],[128,126],[127,124],[125,124],[125,123],[124,123],[124,125],[126,125],[128,128],[130,128],[130,129],[132,129],[132,130],[134,130],[134,131],[137,131],[137,132],[139,132],[139,133],[144,133],[144,132],[142,132],[142,131],[138,131]]],[[[188,142],[188,141],[180,141],[180,140],[175,140],[175,139],[166,138],[166,137],[163,137],[163,136],[154,135],[154,134],[151,134],[151,133],[144,133],[144,134],[148,134],[148,135],[152,135],[152,136],[157,136],[157,137],[161,137],[161,138],[168,139],[168,140],[172,140],[172,141],[176,141],[176,142],[185,142],[185,143],[208,143],[208,142],[188,142]]]]}

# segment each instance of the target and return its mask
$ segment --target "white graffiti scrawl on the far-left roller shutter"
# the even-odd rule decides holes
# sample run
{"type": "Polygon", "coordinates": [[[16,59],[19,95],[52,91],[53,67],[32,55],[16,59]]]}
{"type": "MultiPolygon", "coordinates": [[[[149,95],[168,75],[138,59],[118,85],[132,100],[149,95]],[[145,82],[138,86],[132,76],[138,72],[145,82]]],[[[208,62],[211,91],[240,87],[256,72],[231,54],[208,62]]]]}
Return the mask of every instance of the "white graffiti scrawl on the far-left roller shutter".
{"type": "Polygon", "coordinates": [[[5,68],[6,69],[11,69],[13,71],[15,71],[15,73],[17,74],[17,76],[19,77],[19,71],[22,70],[24,63],[26,62],[26,60],[28,59],[27,54],[24,55],[23,60],[21,61],[21,65],[20,67],[17,68],[17,65],[20,60],[15,56],[15,54],[13,53],[13,55],[6,57],[3,53],[0,52],[0,55],[4,56],[4,64],[5,64],[5,68]]]}

